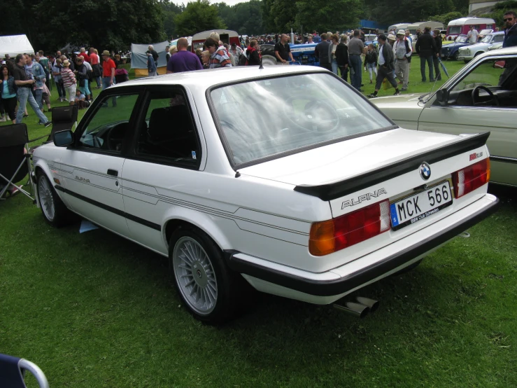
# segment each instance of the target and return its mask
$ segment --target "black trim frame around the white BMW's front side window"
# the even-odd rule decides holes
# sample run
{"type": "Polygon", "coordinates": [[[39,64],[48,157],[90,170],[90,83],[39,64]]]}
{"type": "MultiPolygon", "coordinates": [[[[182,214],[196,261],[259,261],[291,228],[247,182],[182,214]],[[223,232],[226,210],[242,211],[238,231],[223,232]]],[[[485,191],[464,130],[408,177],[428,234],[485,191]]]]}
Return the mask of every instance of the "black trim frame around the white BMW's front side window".
{"type": "Polygon", "coordinates": [[[99,109],[101,109],[101,104],[104,100],[109,99],[111,97],[120,96],[120,95],[136,95],[136,102],[133,106],[133,110],[131,116],[129,116],[129,127],[134,128],[134,120],[136,119],[136,114],[140,111],[141,100],[143,96],[142,88],[139,86],[129,86],[126,88],[108,88],[103,90],[99,96],[94,100],[90,109],[88,109],[85,113],[85,116],[81,118],[79,124],[76,128],[76,131],[73,132],[73,144],[68,148],[72,148],[76,151],[90,152],[90,153],[101,153],[103,155],[111,155],[115,157],[125,158],[127,153],[127,145],[129,144],[129,139],[131,139],[134,130],[128,130],[125,134],[124,140],[122,141],[122,150],[120,152],[105,150],[102,148],[90,148],[83,146],[80,143],[80,138],[83,136],[83,133],[86,130],[87,124],[89,124],[97,114],[99,109]]]}

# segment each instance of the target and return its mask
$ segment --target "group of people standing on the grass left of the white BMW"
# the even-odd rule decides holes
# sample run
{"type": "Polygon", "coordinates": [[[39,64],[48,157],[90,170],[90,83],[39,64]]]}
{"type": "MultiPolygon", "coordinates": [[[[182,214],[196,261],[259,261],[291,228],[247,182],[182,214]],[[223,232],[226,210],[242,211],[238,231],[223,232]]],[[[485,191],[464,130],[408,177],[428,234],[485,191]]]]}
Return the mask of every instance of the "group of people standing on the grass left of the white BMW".
{"type": "MultiPolygon", "coordinates": [[[[99,56],[96,48],[80,48],[78,54],[45,57],[43,51],[35,54],[6,55],[1,64],[0,122],[21,123],[29,116],[27,104],[38,117],[38,124],[48,126],[43,114],[45,106],[52,111],[50,90],[55,85],[57,101],[78,104],[83,109],[91,104],[95,89],[105,89],[115,83],[115,69],[120,55],[113,56],[104,50],[99,56]],[[54,82],[52,83],[52,78],[54,82]]],[[[127,72],[126,72],[127,73],[127,72]]]]}

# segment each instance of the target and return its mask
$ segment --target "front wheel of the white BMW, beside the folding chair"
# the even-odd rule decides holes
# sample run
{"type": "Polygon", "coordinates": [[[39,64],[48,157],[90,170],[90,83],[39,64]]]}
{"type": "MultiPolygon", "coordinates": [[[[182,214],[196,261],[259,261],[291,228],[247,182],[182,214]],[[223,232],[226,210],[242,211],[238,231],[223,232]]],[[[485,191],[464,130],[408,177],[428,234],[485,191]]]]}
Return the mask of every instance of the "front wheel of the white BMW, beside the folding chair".
{"type": "Polygon", "coordinates": [[[38,202],[41,206],[43,218],[50,225],[58,228],[64,226],[73,220],[75,214],[66,208],[55,188],[44,172],[36,173],[36,187],[38,191],[38,202]],[[44,191],[44,192],[43,192],[44,191]],[[54,211],[50,212],[46,205],[53,206],[54,211]]]}

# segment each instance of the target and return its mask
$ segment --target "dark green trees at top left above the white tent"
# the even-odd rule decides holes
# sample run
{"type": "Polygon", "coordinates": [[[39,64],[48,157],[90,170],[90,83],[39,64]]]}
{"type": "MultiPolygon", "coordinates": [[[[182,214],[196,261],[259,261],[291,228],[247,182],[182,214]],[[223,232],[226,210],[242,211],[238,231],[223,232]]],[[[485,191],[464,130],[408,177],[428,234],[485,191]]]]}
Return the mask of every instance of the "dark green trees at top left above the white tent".
{"type": "Polygon", "coordinates": [[[27,34],[35,50],[49,53],[67,43],[127,50],[131,43],[165,38],[156,0],[17,0],[6,9],[3,34],[27,34]]]}

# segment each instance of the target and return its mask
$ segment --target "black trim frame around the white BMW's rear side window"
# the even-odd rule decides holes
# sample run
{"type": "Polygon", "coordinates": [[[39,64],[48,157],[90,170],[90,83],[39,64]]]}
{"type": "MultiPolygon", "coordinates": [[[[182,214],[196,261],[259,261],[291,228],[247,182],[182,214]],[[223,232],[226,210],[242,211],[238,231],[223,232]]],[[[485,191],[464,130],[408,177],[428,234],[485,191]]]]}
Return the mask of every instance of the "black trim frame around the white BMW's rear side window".
{"type": "Polygon", "coordinates": [[[179,167],[184,169],[192,169],[199,171],[201,167],[201,160],[204,155],[203,147],[201,146],[201,138],[199,137],[199,128],[196,125],[196,120],[194,119],[193,111],[192,111],[192,104],[190,103],[190,99],[188,98],[187,90],[183,87],[183,85],[146,85],[144,92],[142,94],[141,98],[141,104],[139,107],[139,113],[136,117],[136,130],[134,130],[132,139],[128,141],[128,147],[127,147],[127,155],[126,158],[130,160],[140,160],[142,162],[149,162],[149,163],[155,163],[160,165],[167,165],[172,167],[179,167]],[[146,113],[150,104],[150,95],[154,91],[166,91],[166,92],[175,92],[178,91],[183,95],[183,100],[185,101],[185,104],[187,105],[187,109],[190,113],[190,120],[192,123],[192,127],[194,128],[197,146],[199,149],[199,155],[196,155],[197,162],[194,164],[187,164],[185,162],[181,161],[174,161],[172,158],[168,158],[165,156],[158,156],[158,155],[148,155],[139,153],[136,150],[136,145],[138,144],[139,137],[140,137],[140,130],[138,129],[140,127],[140,124],[142,120],[145,120],[146,113]]]}

